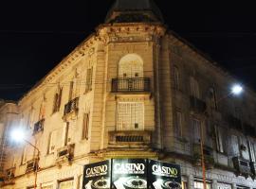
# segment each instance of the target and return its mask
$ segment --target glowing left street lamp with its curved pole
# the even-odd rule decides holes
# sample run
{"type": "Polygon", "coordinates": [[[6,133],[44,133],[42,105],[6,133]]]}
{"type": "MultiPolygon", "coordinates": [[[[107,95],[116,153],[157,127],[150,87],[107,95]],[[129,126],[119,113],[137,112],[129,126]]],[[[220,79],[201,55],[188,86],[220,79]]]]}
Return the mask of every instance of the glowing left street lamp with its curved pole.
{"type": "Polygon", "coordinates": [[[17,143],[22,143],[26,142],[29,146],[32,146],[35,150],[37,150],[37,157],[35,159],[35,182],[34,182],[34,189],[37,187],[37,172],[38,172],[38,163],[39,163],[39,158],[40,158],[40,150],[37,146],[32,145],[29,141],[26,140],[26,135],[25,135],[25,130],[23,129],[13,129],[10,132],[10,138],[17,142],[17,143]]]}

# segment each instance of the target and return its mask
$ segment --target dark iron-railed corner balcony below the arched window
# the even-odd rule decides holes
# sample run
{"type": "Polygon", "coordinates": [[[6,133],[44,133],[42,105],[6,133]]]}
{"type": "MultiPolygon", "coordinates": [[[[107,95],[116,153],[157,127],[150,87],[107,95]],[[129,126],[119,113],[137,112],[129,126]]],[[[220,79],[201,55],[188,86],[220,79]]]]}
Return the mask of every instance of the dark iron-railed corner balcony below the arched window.
{"type": "Polygon", "coordinates": [[[112,93],[130,93],[130,92],[150,92],[150,78],[113,78],[112,93]]]}

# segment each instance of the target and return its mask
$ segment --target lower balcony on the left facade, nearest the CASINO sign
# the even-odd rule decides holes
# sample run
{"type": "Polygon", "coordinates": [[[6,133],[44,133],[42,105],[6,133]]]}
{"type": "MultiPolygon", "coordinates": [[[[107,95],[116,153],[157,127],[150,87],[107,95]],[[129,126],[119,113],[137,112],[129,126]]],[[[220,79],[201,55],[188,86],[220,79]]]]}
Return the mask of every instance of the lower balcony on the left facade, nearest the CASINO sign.
{"type": "Polygon", "coordinates": [[[62,164],[64,161],[68,161],[71,163],[72,159],[74,158],[74,151],[75,151],[75,144],[67,145],[61,147],[57,150],[57,164],[62,164]]]}

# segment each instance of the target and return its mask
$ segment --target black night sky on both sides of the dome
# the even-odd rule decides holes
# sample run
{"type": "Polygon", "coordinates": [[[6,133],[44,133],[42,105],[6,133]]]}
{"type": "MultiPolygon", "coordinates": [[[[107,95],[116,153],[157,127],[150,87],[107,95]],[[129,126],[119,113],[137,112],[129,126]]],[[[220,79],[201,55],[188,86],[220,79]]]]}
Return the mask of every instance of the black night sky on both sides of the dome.
{"type": "MultiPolygon", "coordinates": [[[[0,98],[17,100],[104,21],[114,0],[3,2],[0,98]]],[[[256,89],[256,11],[252,2],[155,3],[170,29],[256,89]]]]}

